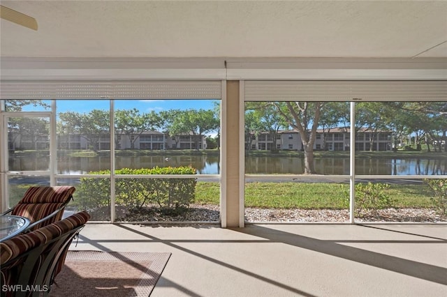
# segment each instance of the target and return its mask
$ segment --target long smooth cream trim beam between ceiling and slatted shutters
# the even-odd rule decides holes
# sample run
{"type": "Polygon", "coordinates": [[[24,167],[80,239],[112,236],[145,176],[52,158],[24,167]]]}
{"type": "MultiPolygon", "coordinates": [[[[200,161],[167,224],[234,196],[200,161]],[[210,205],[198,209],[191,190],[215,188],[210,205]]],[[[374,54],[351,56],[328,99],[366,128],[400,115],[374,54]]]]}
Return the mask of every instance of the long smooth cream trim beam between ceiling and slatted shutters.
{"type": "Polygon", "coordinates": [[[447,58],[0,58],[1,80],[447,79],[447,58]]]}

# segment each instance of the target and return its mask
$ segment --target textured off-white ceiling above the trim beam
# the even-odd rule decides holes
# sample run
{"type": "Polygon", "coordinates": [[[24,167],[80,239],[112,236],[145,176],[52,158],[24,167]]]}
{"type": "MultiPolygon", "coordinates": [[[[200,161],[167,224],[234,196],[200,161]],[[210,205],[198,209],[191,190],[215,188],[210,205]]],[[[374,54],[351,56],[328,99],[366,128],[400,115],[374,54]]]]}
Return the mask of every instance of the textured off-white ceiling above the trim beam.
{"type": "Polygon", "coordinates": [[[447,57],[447,1],[1,4],[38,21],[1,20],[1,56],[447,57]]]}

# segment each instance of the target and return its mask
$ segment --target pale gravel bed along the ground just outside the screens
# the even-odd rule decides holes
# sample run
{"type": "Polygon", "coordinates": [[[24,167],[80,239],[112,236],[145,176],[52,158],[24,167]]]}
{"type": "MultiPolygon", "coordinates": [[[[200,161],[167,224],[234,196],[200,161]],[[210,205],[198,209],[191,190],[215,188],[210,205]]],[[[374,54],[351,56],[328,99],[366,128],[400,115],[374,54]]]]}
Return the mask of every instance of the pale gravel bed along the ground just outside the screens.
{"type": "MultiPolygon", "coordinates": [[[[196,205],[181,214],[161,213],[159,208],[121,210],[119,222],[219,222],[219,206],[196,205]]],[[[348,210],[245,208],[246,222],[349,222],[348,210]]],[[[356,222],[447,222],[427,208],[387,208],[365,213],[356,222]]]]}

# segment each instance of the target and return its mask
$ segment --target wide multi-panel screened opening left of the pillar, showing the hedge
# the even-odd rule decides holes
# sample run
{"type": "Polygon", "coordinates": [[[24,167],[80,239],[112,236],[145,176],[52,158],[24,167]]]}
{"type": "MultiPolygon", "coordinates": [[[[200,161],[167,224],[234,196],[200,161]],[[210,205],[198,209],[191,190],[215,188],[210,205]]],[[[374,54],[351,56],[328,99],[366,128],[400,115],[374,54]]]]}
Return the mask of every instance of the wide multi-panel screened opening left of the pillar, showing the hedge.
{"type": "Polygon", "coordinates": [[[6,100],[4,109],[8,206],[30,185],[73,185],[66,211],[95,221],[220,221],[220,100],[6,100]]]}

